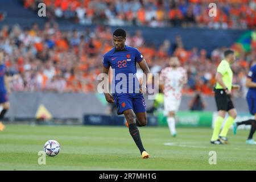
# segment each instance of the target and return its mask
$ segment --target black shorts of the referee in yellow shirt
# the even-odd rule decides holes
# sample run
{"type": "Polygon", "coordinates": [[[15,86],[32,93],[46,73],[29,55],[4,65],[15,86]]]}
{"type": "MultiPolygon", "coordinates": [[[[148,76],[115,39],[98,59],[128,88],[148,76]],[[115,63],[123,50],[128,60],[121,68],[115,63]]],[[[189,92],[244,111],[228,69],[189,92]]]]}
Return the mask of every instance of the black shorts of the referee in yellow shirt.
{"type": "Polygon", "coordinates": [[[230,109],[234,109],[234,105],[230,98],[230,95],[226,94],[224,89],[214,89],[214,93],[218,111],[229,111],[230,109]]]}

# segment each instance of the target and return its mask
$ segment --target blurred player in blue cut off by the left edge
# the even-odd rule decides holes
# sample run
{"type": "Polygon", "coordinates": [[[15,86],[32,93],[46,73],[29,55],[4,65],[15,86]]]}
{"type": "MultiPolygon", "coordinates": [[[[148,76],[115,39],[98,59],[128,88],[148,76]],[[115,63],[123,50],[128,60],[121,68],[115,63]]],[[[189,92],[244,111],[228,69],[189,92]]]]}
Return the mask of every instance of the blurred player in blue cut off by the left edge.
{"type": "Polygon", "coordinates": [[[4,55],[3,52],[0,51],[0,104],[3,107],[0,113],[0,131],[3,131],[5,129],[5,125],[3,125],[1,120],[3,119],[3,117],[5,117],[5,114],[10,107],[7,97],[7,93],[10,93],[10,88],[8,78],[7,76],[5,76],[5,69],[6,67],[4,64],[4,55]]]}

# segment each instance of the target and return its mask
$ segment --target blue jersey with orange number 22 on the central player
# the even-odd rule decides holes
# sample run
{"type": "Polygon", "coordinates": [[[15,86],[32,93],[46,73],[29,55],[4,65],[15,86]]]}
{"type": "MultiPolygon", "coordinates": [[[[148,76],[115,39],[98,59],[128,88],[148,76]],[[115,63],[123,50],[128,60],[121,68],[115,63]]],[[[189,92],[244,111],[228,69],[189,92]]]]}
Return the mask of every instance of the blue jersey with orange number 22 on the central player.
{"type": "MultiPolygon", "coordinates": [[[[136,64],[140,63],[142,60],[143,56],[137,48],[125,46],[122,50],[113,48],[109,52],[105,53],[102,64],[105,68],[111,67],[114,70],[113,78],[115,78],[119,73],[125,74],[127,76],[127,85],[124,86],[129,90],[129,83],[133,83],[133,88],[135,88],[135,82],[138,81],[138,78],[135,78],[135,80],[129,79],[129,73],[137,73],[136,64]]],[[[119,81],[116,78],[114,81],[115,85],[117,85],[118,82],[119,81]]]]}

